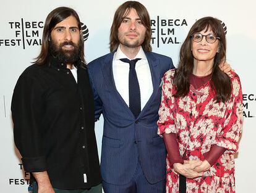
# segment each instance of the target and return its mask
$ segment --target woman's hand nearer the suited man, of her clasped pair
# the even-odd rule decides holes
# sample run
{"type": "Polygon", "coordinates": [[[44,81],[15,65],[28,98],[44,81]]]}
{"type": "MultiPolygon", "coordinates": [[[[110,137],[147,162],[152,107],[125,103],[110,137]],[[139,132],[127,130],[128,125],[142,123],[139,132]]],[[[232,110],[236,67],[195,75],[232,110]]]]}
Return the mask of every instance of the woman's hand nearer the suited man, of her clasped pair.
{"type": "Polygon", "coordinates": [[[203,176],[203,172],[197,172],[194,171],[194,169],[197,166],[200,166],[202,164],[202,161],[200,160],[190,160],[190,161],[184,161],[184,163],[174,163],[173,168],[176,173],[179,173],[186,178],[197,178],[200,176],[203,176]]]}

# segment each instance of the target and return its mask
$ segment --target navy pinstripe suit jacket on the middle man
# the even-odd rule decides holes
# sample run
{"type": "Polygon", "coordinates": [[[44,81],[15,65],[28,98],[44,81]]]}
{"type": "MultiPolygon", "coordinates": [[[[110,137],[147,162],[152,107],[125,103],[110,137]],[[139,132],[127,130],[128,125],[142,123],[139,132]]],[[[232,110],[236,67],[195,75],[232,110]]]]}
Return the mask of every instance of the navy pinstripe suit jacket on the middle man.
{"type": "MultiPolygon", "coordinates": [[[[166,150],[157,135],[161,78],[174,68],[171,58],[145,52],[150,65],[153,94],[137,119],[117,92],[112,70],[114,52],[88,64],[95,95],[95,119],[103,113],[104,130],[101,150],[101,175],[106,183],[126,184],[138,163],[151,184],[166,178],[166,150]]],[[[143,86],[143,85],[140,85],[143,86]]]]}

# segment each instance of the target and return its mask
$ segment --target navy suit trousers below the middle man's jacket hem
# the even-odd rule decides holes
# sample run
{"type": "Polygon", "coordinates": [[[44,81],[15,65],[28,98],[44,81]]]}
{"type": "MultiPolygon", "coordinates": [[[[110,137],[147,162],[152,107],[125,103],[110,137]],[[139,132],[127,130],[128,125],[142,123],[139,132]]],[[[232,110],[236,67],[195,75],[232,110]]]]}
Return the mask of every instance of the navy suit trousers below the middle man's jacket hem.
{"type": "Polygon", "coordinates": [[[155,184],[148,183],[145,178],[140,162],[132,180],[124,185],[109,184],[102,181],[103,190],[105,193],[165,193],[166,180],[160,181],[155,184]]]}

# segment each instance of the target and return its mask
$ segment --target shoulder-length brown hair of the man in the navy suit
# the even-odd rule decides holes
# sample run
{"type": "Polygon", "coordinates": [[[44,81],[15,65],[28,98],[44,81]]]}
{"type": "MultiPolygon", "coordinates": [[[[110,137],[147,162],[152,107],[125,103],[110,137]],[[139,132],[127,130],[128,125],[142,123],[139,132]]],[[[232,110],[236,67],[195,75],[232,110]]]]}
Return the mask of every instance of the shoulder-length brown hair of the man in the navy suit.
{"type": "Polygon", "coordinates": [[[142,43],[142,48],[144,51],[152,51],[152,47],[150,45],[151,41],[151,27],[150,27],[150,16],[145,6],[143,6],[140,2],[137,1],[126,1],[121,6],[119,6],[114,14],[113,23],[110,30],[109,37],[109,49],[110,51],[114,51],[119,46],[118,39],[118,28],[120,27],[122,20],[124,17],[129,15],[130,10],[134,8],[137,14],[142,20],[142,24],[147,29],[145,34],[145,39],[142,43]]]}

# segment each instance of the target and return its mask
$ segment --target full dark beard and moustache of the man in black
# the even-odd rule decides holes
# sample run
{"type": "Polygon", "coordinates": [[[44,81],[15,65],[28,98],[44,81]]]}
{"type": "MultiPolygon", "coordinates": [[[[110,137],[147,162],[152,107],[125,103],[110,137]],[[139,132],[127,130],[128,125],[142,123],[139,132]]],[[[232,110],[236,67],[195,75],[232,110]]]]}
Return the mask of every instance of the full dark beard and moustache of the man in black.
{"type": "Polygon", "coordinates": [[[78,44],[72,41],[64,41],[58,44],[56,41],[49,41],[49,52],[61,63],[64,64],[74,64],[79,59],[79,54],[82,51],[82,43],[79,41],[78,44]],[[73,46],[72,50],[62,49],[62,46],[70,45],[73,46]]]}

